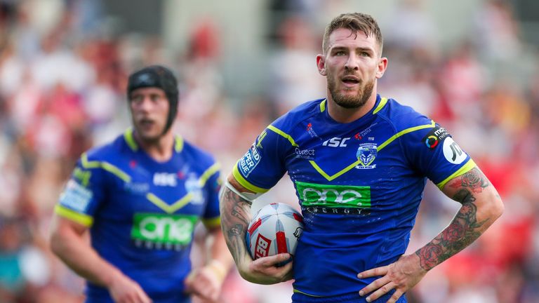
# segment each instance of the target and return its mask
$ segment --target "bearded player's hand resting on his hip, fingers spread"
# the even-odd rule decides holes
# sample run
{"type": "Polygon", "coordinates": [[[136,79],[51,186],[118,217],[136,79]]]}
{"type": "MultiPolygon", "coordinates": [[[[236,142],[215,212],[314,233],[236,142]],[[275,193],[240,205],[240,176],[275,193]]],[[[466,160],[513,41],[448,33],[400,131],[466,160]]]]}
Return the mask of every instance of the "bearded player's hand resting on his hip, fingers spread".
{"type": "Polygon", "coordinates": [[[404,292],[413,288],[415,284],[421,281],[425,274],[427,274],[427,271],[421,268],[417,255],[404,255],[397,262],[385,267],[376,267],[359,273],[357,275],[358,278],[381,276],[373,281],[373,283],[359,290],[359,295],[368,295],[366,301],[373,302],[375,299],[394,289],[395,292],[387,300],[387,303],[394,303],[397,302],[397,299],[404,292]]]}

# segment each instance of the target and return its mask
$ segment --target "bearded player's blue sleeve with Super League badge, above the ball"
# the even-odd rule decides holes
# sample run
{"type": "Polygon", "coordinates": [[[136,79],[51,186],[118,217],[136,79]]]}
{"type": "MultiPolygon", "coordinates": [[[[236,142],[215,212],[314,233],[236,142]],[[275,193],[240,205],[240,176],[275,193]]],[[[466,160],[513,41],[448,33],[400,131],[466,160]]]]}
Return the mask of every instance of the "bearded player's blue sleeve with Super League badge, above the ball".
{"type": "Polygon", "coordinates": [[[237,182],[257,194],[274,187],[286,172],[287,137],[292,140],[273,125],[262,131],[232,170],[237,182]]]}

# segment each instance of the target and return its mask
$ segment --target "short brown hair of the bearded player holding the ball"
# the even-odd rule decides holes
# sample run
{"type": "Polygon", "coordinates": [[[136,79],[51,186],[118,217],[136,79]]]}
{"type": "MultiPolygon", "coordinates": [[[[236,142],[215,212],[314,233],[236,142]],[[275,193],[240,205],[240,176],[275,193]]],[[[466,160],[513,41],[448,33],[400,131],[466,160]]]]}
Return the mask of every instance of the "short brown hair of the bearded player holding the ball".
{"type": "Polygon", "coordinates": [[[350,29],[352,34],[357,32],[364,32],[366,36],[374,36],[378,44],[380,45],[380,54],[382,53],[382,46],[384,41],[382,39],[382,32],[378,23],[371,15],[364,13],[343,13],[333,18],[326,27],[324,32],[324,40],[322,41],[322,50],[324,53],[328,50],[329,35],[335,31],[335,29],[350,29]]]}

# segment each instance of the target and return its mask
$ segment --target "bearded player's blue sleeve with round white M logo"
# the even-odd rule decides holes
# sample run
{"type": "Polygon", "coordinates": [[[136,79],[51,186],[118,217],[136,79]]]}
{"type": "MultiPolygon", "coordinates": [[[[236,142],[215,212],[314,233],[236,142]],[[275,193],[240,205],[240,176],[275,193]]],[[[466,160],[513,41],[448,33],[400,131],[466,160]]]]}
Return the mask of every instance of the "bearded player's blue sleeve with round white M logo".
{"type": "Polygon", "coordinates": [[[412,166],[428,177],[439,189],[454,177],[467,173],[476,164],[453,140],[446,128],[422,116],[420,125],[408,136],[401,137],[405,152],[412,166]]]}

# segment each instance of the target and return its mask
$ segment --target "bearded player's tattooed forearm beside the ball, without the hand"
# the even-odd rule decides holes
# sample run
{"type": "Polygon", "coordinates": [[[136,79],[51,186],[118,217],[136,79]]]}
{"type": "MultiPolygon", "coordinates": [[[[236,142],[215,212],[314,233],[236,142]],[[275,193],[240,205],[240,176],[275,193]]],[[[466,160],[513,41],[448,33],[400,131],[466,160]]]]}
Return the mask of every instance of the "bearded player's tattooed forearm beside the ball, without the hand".
{"type": "Polygon", "coordinates": [[[225,188],[220,198],[221,228],[228,249],[236,264],[247,254],[245,234],[250,219],[251,203],[225,188]]]}

